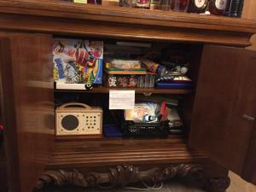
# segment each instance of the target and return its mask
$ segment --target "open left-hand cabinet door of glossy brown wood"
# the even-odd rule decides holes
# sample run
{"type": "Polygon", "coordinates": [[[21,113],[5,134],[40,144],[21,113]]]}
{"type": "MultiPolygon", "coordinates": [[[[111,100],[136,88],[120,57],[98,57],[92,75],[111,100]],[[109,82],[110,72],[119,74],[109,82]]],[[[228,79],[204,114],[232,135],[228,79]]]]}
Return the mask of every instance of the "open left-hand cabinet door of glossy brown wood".
{"type": "Polygon", "coordinates": [[[0,38],[1,110],[10,192],[32,191],[54,144],[50,44],[50,36],[41,34],[0,38]]]}

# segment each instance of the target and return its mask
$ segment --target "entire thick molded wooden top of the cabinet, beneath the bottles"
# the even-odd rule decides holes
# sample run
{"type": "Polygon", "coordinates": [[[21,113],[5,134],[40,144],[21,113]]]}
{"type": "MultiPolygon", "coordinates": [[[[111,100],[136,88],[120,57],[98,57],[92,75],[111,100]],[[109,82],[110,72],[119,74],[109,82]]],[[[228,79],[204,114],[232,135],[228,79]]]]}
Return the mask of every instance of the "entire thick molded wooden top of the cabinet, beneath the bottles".
{"type": "Polygon", "coordinates": [[[246,47],[253,20],[93,4],[0,0],[0,28],[104,38],[181,41],[246,47]]]}

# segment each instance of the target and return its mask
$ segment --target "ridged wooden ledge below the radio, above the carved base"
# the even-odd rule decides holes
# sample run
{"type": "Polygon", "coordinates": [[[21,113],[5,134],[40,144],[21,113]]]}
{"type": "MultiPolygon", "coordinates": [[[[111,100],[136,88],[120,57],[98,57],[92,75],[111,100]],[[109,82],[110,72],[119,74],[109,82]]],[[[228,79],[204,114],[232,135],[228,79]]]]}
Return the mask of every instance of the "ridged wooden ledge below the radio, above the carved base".
{"type": "Polygon", "coordinates": [[[189,149],[186,143],[181,136],[166,139],[57,140],[48,168],[181,164],[206,160],[204,154],[189,149]]]}

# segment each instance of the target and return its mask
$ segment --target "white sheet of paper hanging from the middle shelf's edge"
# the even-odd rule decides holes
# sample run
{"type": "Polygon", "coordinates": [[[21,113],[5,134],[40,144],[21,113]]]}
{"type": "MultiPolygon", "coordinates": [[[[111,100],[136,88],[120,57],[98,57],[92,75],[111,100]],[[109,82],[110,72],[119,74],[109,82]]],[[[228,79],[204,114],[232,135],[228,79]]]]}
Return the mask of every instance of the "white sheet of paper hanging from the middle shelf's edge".
{"type": "Polygon", "coordinates": [[[109,109],[133,109],[135,90],[109,90],[109,109]]]}

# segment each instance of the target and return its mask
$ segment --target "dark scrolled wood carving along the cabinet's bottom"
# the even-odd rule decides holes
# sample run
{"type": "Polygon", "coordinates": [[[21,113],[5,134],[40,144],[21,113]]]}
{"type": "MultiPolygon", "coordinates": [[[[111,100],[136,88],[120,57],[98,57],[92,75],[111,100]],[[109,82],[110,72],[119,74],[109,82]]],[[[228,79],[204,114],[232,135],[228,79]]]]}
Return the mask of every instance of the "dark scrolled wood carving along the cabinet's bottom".
{"type": "Polygon", "coordinates": [[[64,170],[45,171],[39,178],[37,189],[42,189],[49,183],[56,185],[73,184],[80,187],[93,187],[102,183],[109,186],[125,186],[128,183],[140,181],[165,181],[173,177],[201,176],[202,168],[194,164],[181,164],[167,166],[166,168],[154,167],[147,171],[140,171],[138,166],[115,166],[108,172],[87,172],[82,174],[76,170],[67,172],[64,170]]]}

